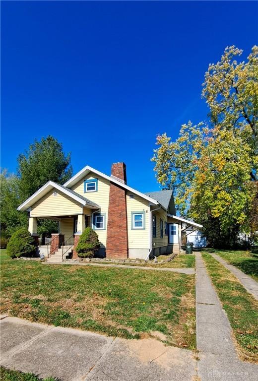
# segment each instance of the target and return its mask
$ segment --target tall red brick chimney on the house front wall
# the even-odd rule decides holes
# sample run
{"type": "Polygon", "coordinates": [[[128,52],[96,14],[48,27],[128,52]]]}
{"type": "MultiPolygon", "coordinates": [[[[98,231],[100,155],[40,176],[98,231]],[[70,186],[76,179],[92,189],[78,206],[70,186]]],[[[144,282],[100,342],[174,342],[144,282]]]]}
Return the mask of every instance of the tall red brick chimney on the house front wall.
{"type": "MultiPolygon", "coordinates": [[[[111,177],[126,184],[126,164],[112,164],[111,177]]],[[[109,258],[128,257],[126,190],[112,182],[109,191],[106,254],[109,258]]]]}

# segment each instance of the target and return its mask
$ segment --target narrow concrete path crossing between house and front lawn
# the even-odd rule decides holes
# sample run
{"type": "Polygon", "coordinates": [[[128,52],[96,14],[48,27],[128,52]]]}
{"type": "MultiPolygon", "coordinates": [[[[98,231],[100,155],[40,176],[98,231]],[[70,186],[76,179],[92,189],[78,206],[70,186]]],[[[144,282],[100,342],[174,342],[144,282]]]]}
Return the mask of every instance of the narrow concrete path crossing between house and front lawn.
{"type": "Polygon", "coordinates": [[[137,268],[140,270],[154,270],[154,271],[172,271],[180,272],[181,274],[193,275],[195,273],[194,268],[172,268],[172,267],[147,267],[147,266],[130,266],[128,264],[111,264],[111,263],[90,263],[90,262],[42,262],[42,264],[68,264],[68,265],[80,265],[80,266],[104,266],[104,267],[120,267],[120,268],[137,268]]]}

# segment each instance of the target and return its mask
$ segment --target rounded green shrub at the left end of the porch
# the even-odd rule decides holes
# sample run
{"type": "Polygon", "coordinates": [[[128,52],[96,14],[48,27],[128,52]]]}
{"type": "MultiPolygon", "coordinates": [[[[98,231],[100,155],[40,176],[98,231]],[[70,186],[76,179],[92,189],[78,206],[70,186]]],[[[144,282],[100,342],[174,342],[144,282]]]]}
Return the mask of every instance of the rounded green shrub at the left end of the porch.
{"type": "Polygon", "coordinates": [[[26,228],[18,229],[6,246],[6,253],[11,258],[19,258],[20,256],[33,256],[36,252],[34,238],[26,228]]]}

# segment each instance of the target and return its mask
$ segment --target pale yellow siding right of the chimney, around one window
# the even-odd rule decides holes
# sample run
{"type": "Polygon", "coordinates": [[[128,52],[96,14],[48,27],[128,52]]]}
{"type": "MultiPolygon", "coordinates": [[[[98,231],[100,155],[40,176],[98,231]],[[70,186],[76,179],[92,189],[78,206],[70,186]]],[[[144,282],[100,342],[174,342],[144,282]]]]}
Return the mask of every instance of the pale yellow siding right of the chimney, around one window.
{"type": "Polygon", "coordinates": [[[127,191],[127,222],[128,222],[128,246],[129,249],[149,249],[149,203],[144,198],[127,191]],[[131,212],[145,210],[145,229],[131,229],[131,212]]]}

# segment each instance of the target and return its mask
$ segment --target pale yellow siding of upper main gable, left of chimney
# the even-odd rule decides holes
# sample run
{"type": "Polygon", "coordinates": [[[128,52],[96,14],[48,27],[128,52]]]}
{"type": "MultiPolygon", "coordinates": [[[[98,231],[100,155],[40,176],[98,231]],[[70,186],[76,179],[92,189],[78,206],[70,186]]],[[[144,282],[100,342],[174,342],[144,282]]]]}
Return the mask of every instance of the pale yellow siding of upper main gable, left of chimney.
{"type": "MultiPolygon", "coordinates": [[[[75,184],[71,188],[73,191],[83,195],[89,200],[96,202],[96,204],[101,206],[100,212],[106,213],[106,229],[95,230],[99,236],[99,240],[102,247],[106,246],[106,243],[107,243],[109,185],[110,185],[110,182],[108,180],[103,179],[100,176],[96,176],[94,173],[89,173],[87,176],[85,176],[82,180],[80,180],[77,184],[75,184]],[[98,191],[84,193],[84,180],[89,180],[89,179],[98,179],[98,191]]],[[[92,210],[92,212],[94,212],[94,210],[92,210]]],[[[92,223],[92,218],[90,219],[90,222],[92,223]]]]}

